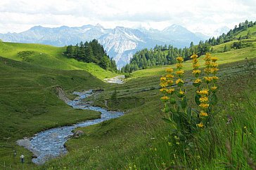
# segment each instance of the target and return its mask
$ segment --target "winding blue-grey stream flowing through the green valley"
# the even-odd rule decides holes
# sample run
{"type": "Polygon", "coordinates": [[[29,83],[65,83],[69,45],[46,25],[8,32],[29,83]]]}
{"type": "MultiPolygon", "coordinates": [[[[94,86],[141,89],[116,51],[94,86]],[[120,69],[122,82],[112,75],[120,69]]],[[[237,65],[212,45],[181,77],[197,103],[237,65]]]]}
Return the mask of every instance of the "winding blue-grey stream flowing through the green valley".
{"type": "Polygon", "coordinates": [[[93,94],[92,90],[86,92],[73,92],[73,94],[76,94],[78,97],[72,101],[68,101],[68,105],[72,106],[73,108],[99,111],[101,112],[101,118],[79,122],[71,126],[48,129],[44,132],[34,134],[34,136],[30,138],[18,140],[17,143],[19,146],[27,148],[34,154],[34,158],[32,158],[32,162],[34,162],[34,164],[44,164],[47,160],[51,160],[54,157],[68,153],[64,143],[68,141],[68,139],[70,139],[70,137],[73,135],[72,130],[75,128],[95,125],[105,120],[118,118],[124,114],[123,112],[107,111],[101,107],[83,104],[82,99],[91,96],[93,94]]]}

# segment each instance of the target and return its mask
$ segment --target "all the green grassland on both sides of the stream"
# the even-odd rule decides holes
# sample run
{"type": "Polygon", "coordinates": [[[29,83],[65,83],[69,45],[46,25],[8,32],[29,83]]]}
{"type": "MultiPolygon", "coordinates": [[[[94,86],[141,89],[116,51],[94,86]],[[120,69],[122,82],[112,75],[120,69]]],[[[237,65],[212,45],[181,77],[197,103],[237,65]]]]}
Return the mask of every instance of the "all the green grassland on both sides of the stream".
{"type": "MultiPolygon", "coordinates": [[[[0,42],[0,169],[255,169],[254,35],[242,40],[247,46],[241,49],[221,52],[224,44],[213,47],[212,56],[219,58],[216,115],[213,126],[198,130],[189,146],[171,143],[172,127],[162,120],[160,77],[175,65],[135,71],[122,85],[108,84],[102,79],[116,73],[68,59],[63,48],[0,42]],[[56,87],[70,99],[73,91],[103,89],[85,100],[125,114],[79,128],[84,134],[66,143],[67,155],[37,166],[29,159],[32,153],[16,140],[100,116],[66,105],[58,99],[56,87]],[[25,164],[13,157],[13,150],[25,155],[25,164]]],[[[203,56],[199,62],[203,66],[203,56]]],[[[184,62],[186,82],[193,78],[191,68],[191,61],[184,62]]],[[[190,105],[195,105],[194,92],[195,87],[186,85],[190,105]]]]}

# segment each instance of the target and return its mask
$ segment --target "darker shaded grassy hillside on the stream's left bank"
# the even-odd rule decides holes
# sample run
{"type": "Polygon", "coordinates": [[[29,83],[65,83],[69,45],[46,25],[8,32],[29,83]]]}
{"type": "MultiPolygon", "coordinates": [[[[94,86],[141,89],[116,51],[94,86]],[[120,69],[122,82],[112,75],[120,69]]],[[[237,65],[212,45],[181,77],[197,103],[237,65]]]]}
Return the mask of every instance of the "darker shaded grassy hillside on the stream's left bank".
{"type": "Polygon", "coordinates": [[[58,99],[54,87],[68,94],[107,85],[86,71],[47,69],[27,62],[0,57],[0,169],[4,164],[21,169],[17,154],[26,156],[24,167],[32,166],[31,153],[15,144],[17,139],[32,136],[51,127],[70,125],[98,118],[95,111],[75,110],[58,99]],[[16,167],[18,166],[18,167],[16,167]]]}

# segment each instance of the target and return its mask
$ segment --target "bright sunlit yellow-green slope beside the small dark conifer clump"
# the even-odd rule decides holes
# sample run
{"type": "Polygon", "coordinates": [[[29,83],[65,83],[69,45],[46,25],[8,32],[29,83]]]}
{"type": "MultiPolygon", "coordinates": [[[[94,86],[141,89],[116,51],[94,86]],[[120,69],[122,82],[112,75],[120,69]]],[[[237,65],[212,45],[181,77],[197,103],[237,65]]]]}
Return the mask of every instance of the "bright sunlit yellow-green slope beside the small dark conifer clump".
{"type": "Polygon", "coordinates": [[[84,70],[101,80],[117,76],[117,73],[105,71],[94,63],[84,63],[78,62],[76,59],[68,59],[62,55],[64,51],[65,48],[58,48],[51,45],[0,42],[0,56],[9,59],[29,62],[50,69],[84,70]]]}

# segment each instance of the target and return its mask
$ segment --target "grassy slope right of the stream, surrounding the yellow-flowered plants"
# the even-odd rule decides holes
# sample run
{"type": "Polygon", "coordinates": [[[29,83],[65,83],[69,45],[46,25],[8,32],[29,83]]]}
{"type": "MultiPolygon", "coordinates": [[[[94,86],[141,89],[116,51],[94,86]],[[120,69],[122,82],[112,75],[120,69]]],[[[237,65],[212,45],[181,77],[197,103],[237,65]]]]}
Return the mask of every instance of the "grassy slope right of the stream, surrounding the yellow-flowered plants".
{"type": "MultiPolygon", "coordinates": [[[[106,87],[105,91],[94,99],[94,104],[105,106],[105,100],[110,101],[113,92],[117,90],[117,100],[122,99],[123,103],[121,106],[109,107],[126,110],[126,114],[115,120],[79,128],[85,134],[79,139],[68,141],[68,155],[38,168],[166,169],[176,165],[188,169],[224,169],[232,164],[236,168],[250,169],[247,159],[252,157],[252,160],[256,160],[256,122],[252,119],[255,118],[256,109],[253,105],[256,99],[255,62],[256,59],[243,59],[220,66],[216,125],[213,129],[200,132],[196,137],[200,152],[191,150],[184,157],[182,149],[174,151],[172,146],[168,145],[169,127],[161,120],[164,115],[161,112],[161,94],[157,89],[159,76],[153,74],[132,78],[124,85],[106,87]],[[130,99],[134,98],[144,102],[131,104],[130,99]],[[130,108],[122,108],[126,105],[130,108]],[[227,114],[233,118],[229,127],[226,125],[227,114]],[[247,134],[243,130],[245,126],[247,134]],[[235,131],[237,143],[231,140],[231,134],[235,131]],[[227,142],[230,142],[232,148],[233,162],[229,162],[227,142]],[[249,158],[246,158],[243,150],[249,153],[249,158]]],[[[187,78],[190,76],[190,73],[186,74],[187,78]]],[[[193,94],[193,87],[188,86],[186,90],[188,95],[193,94]]]]}

